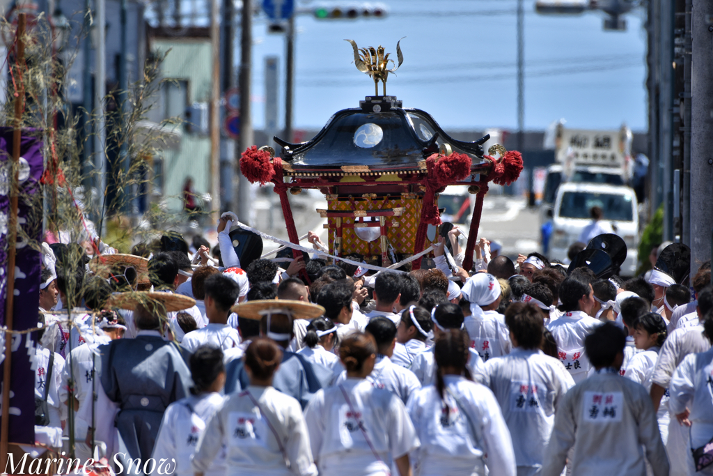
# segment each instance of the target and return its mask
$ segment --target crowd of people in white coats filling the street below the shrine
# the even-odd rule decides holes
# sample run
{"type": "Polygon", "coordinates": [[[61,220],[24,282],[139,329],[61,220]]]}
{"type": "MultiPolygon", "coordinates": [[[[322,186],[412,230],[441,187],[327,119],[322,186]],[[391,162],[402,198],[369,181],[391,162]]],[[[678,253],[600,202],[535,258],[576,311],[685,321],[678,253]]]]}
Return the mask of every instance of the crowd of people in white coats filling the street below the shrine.
{"type": "Polygon", "coordinates": [[[691,290],[483,238],[464,270],[453,228],[430,269],[329,262],[314,233],[283,269],[242,265],[231,224],[214,256],[43,245],[38,438],[118,474],[713,475],[709,262],[691,290]]]}

